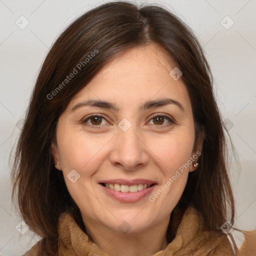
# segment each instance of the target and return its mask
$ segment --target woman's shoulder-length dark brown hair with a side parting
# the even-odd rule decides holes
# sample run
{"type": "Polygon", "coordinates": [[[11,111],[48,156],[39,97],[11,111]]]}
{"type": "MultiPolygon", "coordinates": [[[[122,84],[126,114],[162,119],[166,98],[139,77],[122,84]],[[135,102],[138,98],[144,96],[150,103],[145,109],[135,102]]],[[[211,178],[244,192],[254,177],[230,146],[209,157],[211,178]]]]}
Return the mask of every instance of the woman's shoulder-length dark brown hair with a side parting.
{"type": "Polygon", "coordinates": [[[61,212],[73,212],[84,230],[62,172],[53,165],[51,143],[55,141],[58,117],[105,63],[126,49],[151,43],[166,49],[182,71],[180,79],[190,96],[195,137],[203,137],[199,166],[189,173],[183,194],[171,213],[167,240],[170,242],[175,236],[188,205],[202,214],[205,229],[213,234],[219,232],[227,218],[233,223],[234,202],[226,170],[223,125],[213,95],[212,75],[195,35],[163,7],[108,2],[74,20],[52,45],[38,74],[15,152],[13,194],[17,192],[21,216],[32,231],[42,236],[40,250],[48,255],[57,250],[61,212]],[[77,74],[65,80],[79,63],[77,74]]]}

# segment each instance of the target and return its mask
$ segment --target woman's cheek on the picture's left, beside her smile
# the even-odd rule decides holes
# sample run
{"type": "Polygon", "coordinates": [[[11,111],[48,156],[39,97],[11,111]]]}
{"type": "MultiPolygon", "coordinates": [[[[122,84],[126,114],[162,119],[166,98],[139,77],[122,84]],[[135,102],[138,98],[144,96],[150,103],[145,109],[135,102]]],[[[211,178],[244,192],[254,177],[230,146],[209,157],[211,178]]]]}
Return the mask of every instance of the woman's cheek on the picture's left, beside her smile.
{"type": "MultiPolygon", "coordinates": [[[[102,159],[105,157],[102,148],[109,138],[106,136],[99,139],[93,135],[75,133],[66,129],[59,132],[57,139],[67,189],[78,207],[89,214],[90,210],[84,209],[84,205],[99,207],[93,202],[95,197],[91,196],[93,190],[91,177],[100,168],[102,159]]],[[[100,211],[100,208],[98,210],[100,211]]]]}

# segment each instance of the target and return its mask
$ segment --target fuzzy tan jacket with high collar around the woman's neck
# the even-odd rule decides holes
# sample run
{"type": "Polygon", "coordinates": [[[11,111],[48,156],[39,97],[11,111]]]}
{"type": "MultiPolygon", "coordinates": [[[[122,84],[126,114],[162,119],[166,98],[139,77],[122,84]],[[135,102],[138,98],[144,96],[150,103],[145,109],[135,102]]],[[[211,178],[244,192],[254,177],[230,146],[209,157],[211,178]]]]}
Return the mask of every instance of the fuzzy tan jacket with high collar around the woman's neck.
{"type": "MultiPolygon", "coordinates": [[[[237,231],[209,239],[208,231],[201,231],[198,212],[188,207],[183,214],[175,238],[164,250],[152,256],[256,256],[256,229],[237,231]]],[[[78,227],[69,213],[59,217],[58,256],[106,256],[106,254],[78,227]]],[[[36,243],[23,256],[42,256],[36,243]]],[[[45,254],[47,255],[47,254],[45,254]]]]}

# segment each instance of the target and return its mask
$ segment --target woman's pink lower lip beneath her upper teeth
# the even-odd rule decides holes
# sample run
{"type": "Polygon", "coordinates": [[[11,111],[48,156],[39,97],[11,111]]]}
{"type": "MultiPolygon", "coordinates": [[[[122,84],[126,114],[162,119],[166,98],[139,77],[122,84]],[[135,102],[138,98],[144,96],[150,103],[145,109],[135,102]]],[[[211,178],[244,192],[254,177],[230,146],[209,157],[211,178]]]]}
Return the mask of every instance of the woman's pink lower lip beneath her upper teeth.
{"type": "Polygon", "coordinates": [[[99,184],[103,190],[110,196],[112,196],[113,198],[121,201],[121,202],[136,202],[142,198],[144,198],[145,196],[149,195],[150,192],[154,189],[154,187],[156,186],[156,184],[144,188],[140,191],[137,192],[121,192],[121,191],[116,191],[114,189],[111,188],[107,188],[101,184],[99,184]]]}

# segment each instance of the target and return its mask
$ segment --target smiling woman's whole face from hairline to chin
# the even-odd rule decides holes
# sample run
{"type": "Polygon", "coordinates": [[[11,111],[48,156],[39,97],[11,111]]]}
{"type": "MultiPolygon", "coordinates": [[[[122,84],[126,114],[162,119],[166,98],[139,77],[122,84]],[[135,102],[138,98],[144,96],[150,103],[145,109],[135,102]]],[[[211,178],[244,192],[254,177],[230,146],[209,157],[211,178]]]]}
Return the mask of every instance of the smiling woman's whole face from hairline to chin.
{"type": "Polygon", "coordinates": [[[59,117],[52,153],[85,225],[134,232],[167,225],[195,169],[191,103],[166,57],[154,44],[129,49],[59,117]]]}

